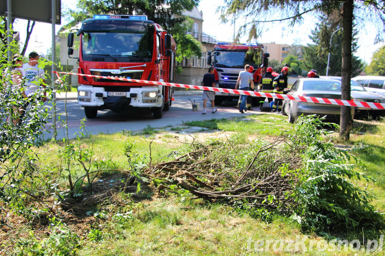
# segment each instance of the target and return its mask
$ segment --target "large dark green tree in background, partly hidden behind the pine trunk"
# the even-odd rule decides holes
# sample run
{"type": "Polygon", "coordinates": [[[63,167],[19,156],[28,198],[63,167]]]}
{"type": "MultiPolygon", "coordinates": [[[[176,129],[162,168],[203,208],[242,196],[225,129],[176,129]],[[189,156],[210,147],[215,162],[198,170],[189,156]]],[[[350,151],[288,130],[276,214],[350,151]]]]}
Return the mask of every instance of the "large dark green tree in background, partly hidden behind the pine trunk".
{"type": "MultiPolygon", "coordinates": [[[[314,44],[309,44],[304,48],[304,68],[307,71],[315,69],[319,75],[325,75],[326,67],[328,66],[328,55],[330,52],[328,75],[341,76],[342,29],[338,14],[321,15],[319,16],[319,20],[320,21],[317,23],[316,28],[312,30],[312,35],[309,36],[313,40],[314,44]],[[331,37],[332,34],[333,37],[331,37]],[[332,38],[331,45],[330,38],[332,38]]],[[[353,53],[358,49],[357,34],[357,29],[354,29],[352,39],[353,53]]],[[[354,77],[361,73],[362,67],[362,61],[357,56],[352,55],[352,76],[354,77]]]]}

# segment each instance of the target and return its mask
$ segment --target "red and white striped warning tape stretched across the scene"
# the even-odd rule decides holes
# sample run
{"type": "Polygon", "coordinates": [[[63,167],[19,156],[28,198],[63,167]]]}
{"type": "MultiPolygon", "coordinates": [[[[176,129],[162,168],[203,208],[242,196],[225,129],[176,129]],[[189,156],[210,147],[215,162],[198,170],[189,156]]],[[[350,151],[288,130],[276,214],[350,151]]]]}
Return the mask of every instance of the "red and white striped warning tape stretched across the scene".
{"type": "Polygon", "coordinates": [[[318,98],[318,97],[309,97],[309,96],[292,96],[292,95],[279,94],[279,93],[262,93],[262,92],[233,90],[233,89],[224,89],[224,88],[216,88],[216,87],[213,88],[213,87],[204,87],[204,86],[190,86],[188,84],[182,84],[182,83],[147,81],[147,80],[137,80],[137,79],[121,78],[121,77],[109,77],[109,76],[95,76],[95,75],[85,75],[85,74],[70,73],[70,72],[55,72],[55,73],[59,78],[60,76],[58,73],[94,77],[94,78],[103,78],[103,79],[110,79],[110,80],[120,80],[120,81],[127,81],[127,82],[139,82],[139,83],[144,83],[147,86],[153,86],[153,85],[170,86],[170,87],[188,88],[188,89],[222,92],[222,93],[243,94],[243,95],[249,95],[253,97],[290,99],[290,100],[296,100],[296,101],[302,101],[302,102],[323,103],[323,104],[340,105],[340,106],[357,106],[359,108],[385,110],[385,103],[353,101],[353,100],[343,100],[343,99],[327,99],[327,98],[318,98]]]}

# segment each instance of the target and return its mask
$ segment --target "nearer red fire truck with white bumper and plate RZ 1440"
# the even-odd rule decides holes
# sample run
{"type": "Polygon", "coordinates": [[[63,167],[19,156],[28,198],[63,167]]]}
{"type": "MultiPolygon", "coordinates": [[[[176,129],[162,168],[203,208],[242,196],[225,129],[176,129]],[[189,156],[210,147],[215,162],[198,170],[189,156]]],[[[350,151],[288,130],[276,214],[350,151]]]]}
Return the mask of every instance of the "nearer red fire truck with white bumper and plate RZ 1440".
{"type": "MultiPolygon", "coordinates": [[[[145,15],[94,15],[83,21],[78,73],[173,82],[176,43],[145,15]]],[[[68,35],[73,54],[74,33],[68,35]]],[[[122,113],[147,109],[155,118],[171,105],[172,88],[143,83],[79,76],[78,102],[87,118],[98,110],[122,113]]]]}

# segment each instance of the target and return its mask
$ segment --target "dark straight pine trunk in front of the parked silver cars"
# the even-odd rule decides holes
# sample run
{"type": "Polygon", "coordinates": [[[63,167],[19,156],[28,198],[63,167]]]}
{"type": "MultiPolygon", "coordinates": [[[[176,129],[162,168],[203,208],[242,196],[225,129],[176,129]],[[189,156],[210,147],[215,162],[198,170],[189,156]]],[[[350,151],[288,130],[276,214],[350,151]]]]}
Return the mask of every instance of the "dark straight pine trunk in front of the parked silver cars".
{"type": "MultiPolygon", "coordinates": [[[[342,4],[342,88],[341,99],[350,100],[350,78],[352,75],[352,31],[353,31],[354,1],[344,1],[342,4]]],[[[353,120],[350,106],[341,106],[339,136],[349,141],[353,120]]]]}

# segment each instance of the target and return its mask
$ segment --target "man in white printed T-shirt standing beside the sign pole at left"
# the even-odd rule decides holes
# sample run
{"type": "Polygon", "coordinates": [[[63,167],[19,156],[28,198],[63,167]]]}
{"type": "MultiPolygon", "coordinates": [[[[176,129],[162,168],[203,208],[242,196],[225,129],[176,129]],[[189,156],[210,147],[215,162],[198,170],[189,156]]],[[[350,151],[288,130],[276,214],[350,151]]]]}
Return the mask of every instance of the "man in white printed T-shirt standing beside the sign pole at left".
{"type": "MultiPolygon", "coordinates": [[[[27,106],[32,100],[33,94],[40,89],[40,87],[46,88],[44,80],[44,70],[38,67],[38,59],[40,56],[36,52],[31,52],[29,55],[29,61],[24,63],[23,67],[20,69],[22,72],[24,86],[26,87],[24,93],[29,99],[26,101],[24,106],[22,106],[22,114],[20,115],[20,122],[25,115],[27,106]],[[43,80],[42,80],[43,79],[43,80]]],[[[44,97],[38,98],[39,100],[46,101],[46,92],[44,92],[44,97]]]]}

